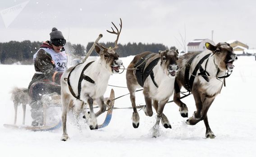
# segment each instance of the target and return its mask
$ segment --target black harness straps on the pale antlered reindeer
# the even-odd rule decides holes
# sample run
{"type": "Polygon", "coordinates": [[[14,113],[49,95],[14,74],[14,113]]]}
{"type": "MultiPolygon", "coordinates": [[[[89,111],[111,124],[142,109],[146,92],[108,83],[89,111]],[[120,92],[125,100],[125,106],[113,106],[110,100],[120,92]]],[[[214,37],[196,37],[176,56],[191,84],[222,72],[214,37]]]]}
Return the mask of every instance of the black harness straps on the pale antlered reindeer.
{"type": "MultiPolygon", "coordinates": [[[[82,69],[82,72],[81,72],[81,75],[80,75],[80,78],[79,78],[79,81],[78,81],[78,96],[76,96],[76,94],[74,93],[74,91],[73,91],[73,89],[72,89],[72,87],[71,87],[71,85],[70,85],[70,82],[69,82],[69,77],[70,77],[70,74],[71,74],[71,72],[75,69],[75,67],[77,66],[75,66],[71,71],[70,71],[70,73],[69,73],[69,76],[68,76],[68,85],[69,85],[69,91],[71,92],[71,94],[75,97],[75,98],[77,98],[77,100],[80,100],[80,94],[81,94],[81,83],[82,83],[82,80],[84,79],[84,77],[86,77],[88,80],[90,80],[89,82],[93,82],[94,83],[94,81],[90,78],[90,77],[88,77],[88,76],[86,76],[86,75],[84,75],[83,74],[83,72],[88,68],[88,66],[90,66],[91,65],[91,63],[93,63],[94,61],[91,61],[91,62],[89,62],[89,63],[87,63],[87,65],[85,65],[85,67],[82,69]]],[[[82,63],[81,63],[82,64],[82,63]]],[[[78,64],[78,65],[80,65],[80,64],[78,64]]],[[[85,79],[85,80],[87,80],[87,79],[85,79]]],[[[87,81],[88,81],[87,80],[87,81]]]]}

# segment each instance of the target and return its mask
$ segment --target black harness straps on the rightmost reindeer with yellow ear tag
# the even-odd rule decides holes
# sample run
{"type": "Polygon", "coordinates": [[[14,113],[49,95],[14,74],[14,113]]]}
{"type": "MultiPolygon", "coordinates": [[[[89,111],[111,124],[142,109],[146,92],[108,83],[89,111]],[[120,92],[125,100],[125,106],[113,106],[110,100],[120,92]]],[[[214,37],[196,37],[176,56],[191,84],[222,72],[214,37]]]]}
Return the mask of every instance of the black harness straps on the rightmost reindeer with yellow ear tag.
{"type": "MultiPolygon", "coordinates": [[[[198,53],[199,54],[199,53],[198,53]]],[[[192,61],[195,59],[195,57],[198,55],[196,54],[195,56],[193,56],[189,61],[188,63],[186,64],[186,69],[185,69],[185,74],[184,74],[184,77],[185,77],[185,86],[186,86],[186,89],[188,92],[191,92],[192,90],[192,87],[193,87],[193,83],[194,83],[194,80],[195,80],[195,76],[197,75],[197,71],[200,69],[200,66],[201,64],[207,59],[209,58],[210,54],[207,54],[205,57],[203,57],[198,63],[197,63],[197,66],[195,67],[195,69],[193,70],[191,76],[190,76],[190,79],[189,79],[189,71],[190,71],[190,67],[191,67],[191,63],[192,61]]],[[[207,60],[208,62],[208,60],[207,60]]],[[[207,65],[207,62],[206,62],[206,65],[207,65]]],[[[205,70],[203,70],[203,68],[201,67],[201,71],[198,75],[202,75],[203,78],[209,82],[209,78],[207,77],[207,74],[208,76],[209,73],[205,70]]]]}

